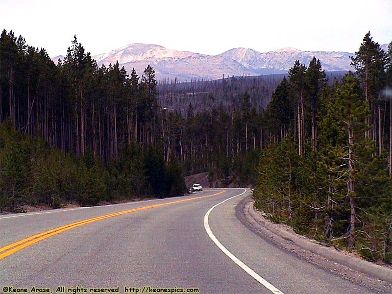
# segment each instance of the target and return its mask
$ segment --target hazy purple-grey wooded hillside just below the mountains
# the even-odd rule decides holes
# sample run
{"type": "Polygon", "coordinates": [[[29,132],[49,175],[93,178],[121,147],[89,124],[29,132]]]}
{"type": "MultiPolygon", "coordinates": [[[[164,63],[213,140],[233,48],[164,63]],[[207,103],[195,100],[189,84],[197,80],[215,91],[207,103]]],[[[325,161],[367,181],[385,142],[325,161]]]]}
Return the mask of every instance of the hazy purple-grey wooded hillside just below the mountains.
{"type": "MultiPolygon", "coordinates": [[[[328,83],[340,80],[345,71],[327,72],[328,83]]],[[[245,91],[250,102],[259,112],[265,109],[271,100],[276,86],[287,74],[268,74],[248,77],[229,77],[213,81],[192,81],[186,83],[161,82],[158,85],[158,102],[169,111],[186,115],[189,104],[194,112],[203,111],[206,107],[220,105],[232,113],[241,107],[245,91]]]]}

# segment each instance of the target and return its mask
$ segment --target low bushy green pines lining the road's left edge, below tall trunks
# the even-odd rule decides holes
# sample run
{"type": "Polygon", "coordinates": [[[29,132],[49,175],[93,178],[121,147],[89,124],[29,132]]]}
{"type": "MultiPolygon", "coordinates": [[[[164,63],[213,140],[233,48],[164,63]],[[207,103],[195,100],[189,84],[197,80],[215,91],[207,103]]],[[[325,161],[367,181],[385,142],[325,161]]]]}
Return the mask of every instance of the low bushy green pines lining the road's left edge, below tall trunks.
{"type": "Polygon", "coordinates": [[[178,159],[172,158],[166,167],[157,148],[127,146],[118,160],[105,166],[90,150],[74,157],[41,138],[23,135],[10,121],[0,124],[0,160],[1,210],[24,204],[86,206],[151,196],[151,192],[159,197],[186,192],[178,159]]]}

